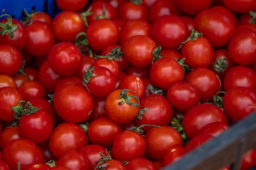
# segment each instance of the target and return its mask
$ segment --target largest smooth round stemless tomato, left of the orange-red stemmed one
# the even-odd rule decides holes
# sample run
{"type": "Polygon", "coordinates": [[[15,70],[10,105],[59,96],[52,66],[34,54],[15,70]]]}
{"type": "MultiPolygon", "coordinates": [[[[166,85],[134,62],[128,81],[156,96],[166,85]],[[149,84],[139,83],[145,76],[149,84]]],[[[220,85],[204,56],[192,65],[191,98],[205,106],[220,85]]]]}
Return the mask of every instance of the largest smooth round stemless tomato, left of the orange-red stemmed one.
{"type": "Polygon", "coordinates": [[[68,84],[56,91],[53,105],[57,114],[67,122],[86,120],[93,109],[93,99],[86,87],[68,84]]]}

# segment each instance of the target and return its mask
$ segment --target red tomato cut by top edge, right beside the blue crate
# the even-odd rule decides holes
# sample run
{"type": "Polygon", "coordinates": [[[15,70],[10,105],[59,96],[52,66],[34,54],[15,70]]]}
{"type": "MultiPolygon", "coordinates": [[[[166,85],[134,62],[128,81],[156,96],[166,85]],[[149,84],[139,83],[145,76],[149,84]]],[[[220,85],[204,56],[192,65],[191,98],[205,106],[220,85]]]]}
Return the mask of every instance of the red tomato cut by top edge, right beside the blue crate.
{"type": "Polygon", "coordinates": [[[79,1],[57,0],[56,1],[57,6],[63,11],[80,11],[87,5],[87,3],[88,3],[87,0],[79,0],[79,1]]]}

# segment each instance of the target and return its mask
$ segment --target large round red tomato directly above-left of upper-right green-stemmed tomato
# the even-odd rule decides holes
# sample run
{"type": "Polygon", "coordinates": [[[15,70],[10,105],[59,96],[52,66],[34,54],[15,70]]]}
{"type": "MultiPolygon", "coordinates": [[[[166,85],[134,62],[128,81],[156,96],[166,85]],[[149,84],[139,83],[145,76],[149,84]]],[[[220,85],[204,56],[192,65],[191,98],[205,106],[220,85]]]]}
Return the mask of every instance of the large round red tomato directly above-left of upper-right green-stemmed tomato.
{"type": "Polygon", "coordinates": [[[159,16],[152,25],[152,38],[163,49],[177,49],[188,36],[186,22],[175,15],[159,16]]]}

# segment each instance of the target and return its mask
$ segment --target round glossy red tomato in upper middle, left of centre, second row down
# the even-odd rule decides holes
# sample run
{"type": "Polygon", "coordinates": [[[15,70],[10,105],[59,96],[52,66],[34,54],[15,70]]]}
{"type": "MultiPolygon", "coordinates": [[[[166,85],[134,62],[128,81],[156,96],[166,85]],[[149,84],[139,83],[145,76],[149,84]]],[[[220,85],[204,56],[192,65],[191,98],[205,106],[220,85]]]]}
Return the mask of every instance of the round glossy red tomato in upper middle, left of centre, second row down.
{"type": "Polygon", "coordinates": [[[95,51],[102,51],[105,46],[116,44],[119,40],[119,29],[110,19],[92,21],[86,30],[88,43],[95,51]]]}

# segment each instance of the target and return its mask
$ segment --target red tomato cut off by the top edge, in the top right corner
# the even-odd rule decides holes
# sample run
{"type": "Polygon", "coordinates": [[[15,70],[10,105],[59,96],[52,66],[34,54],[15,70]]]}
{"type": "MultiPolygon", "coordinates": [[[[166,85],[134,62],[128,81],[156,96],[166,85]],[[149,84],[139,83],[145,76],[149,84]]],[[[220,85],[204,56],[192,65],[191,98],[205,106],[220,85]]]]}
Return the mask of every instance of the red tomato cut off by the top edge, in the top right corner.
{"type": "Polygon", "coordinates": [[[253,0],[223,0],[224,5],[233,12],[245,13],[256,8],[256,2],[253,0]]]}

